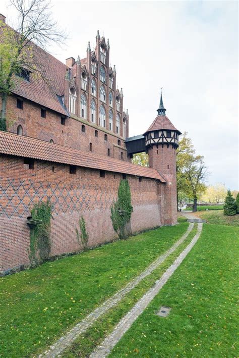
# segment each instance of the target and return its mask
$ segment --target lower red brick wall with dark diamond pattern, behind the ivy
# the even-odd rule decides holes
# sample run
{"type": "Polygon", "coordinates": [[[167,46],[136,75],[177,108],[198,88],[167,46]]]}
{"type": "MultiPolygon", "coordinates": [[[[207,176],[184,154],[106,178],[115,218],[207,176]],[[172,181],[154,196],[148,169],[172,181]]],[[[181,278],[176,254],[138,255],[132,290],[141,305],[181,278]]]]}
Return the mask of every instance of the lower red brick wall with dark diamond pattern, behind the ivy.
{"type": "MultiPolygon", "coordinates": [[[[85,218],[89,245],[110,241],[116,237],[110,220],[110,207],[117,196],[121,174],[34,161],[34,169],[25,169],[23,159],[0,157],[0,271],[28,264],[30,229],[26,218],[33,203],[49,199],[52,203],[51,254],[79,250],[76,227],[85,218]],[[52,171],[54,167],[54,171],[52,171]]],[[[128,176],[134,211],[132,230],[139,231],[162,224],[161,192],[164,185],[153,179],[128,176]]],[[[163,205],[163,203],[162,203],[163,205]]]]}

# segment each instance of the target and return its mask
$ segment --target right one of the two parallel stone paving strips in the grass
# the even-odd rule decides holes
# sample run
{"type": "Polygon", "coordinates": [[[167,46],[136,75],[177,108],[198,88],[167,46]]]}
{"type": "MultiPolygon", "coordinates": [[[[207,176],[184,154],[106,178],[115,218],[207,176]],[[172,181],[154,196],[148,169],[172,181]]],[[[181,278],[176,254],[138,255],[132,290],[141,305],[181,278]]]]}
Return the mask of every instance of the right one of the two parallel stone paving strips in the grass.
{"type": "Polygon", "coordinates": [[[91,353],[90,358],[103,358],[106,357],[112,348],[118,343],[122,336],[128,331],[134,321],[144,312],[148,304],[158,294],[163,285],[171,277],[174,271],[180,266],[182,261],[186,258],[187,254],[191,251],[192,247],[197,242],[201,235],[203,224],[198,224],[197,234],[193,237],[190,244],[181,252],[176,258],[174,263],[164,272],[159,280],[157,280],[153,287],[151,287],[141,299],[134,305],[134,307],[122,318],[122,320],[115,326],[112,333],[110,333],[105,340],[96,347],[91,353]]]}

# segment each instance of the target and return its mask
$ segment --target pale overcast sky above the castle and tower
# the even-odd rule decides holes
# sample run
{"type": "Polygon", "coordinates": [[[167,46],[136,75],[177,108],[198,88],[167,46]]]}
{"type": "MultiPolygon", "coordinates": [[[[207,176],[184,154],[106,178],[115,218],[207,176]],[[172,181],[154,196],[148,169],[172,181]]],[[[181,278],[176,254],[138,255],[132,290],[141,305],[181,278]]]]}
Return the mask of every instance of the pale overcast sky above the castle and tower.
{"type": "MultiPolygon", "coordinates": [[[[0,12],[10,20],[14,12],[7,4],[0,12]]],[[[239,188],[237,2],[52,4],[55,19],[70,36],[64,48],[50,49],[59,60],[86,57],[97,29],[109,38],[130,136],[143,134],[153,122],[163,87],[166,115],[205,157],[208,183],[239,188]]]]}

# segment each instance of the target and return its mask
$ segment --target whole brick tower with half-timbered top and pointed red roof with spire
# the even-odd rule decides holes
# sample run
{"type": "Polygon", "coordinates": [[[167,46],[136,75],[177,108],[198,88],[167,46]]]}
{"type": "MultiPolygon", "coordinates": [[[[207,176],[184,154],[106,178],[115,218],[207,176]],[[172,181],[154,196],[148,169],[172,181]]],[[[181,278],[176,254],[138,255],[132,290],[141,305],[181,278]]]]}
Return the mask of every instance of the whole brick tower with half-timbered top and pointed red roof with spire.
{"type": "Polygon", "coordinates": [[[145,144],[149,154],[149,167],[159,171],[166,180],[161,188],[161,216],[163,225],[174,225],[177,222],[176,191],[176,148],[178,131],[165,115],[162,92],[158,115],[144,133],[145,144]]]}

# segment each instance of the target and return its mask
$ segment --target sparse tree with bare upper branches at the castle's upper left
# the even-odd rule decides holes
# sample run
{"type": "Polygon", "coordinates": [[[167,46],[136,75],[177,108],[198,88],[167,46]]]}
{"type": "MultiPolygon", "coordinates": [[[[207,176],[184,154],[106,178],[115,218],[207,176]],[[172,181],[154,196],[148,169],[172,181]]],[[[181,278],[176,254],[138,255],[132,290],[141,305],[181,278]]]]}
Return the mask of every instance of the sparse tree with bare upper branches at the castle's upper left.
{"type": "Polygon", "coordinates": [[[13,75],[22,69],[38,74],[44,81],[44,69],[36,55],[39,47],[63,43],[65,32],[52,20],[46,0],[11,0],[17,10],[18,23],[11,28],[0,21],[0,91],[2,97],[0,129],[6,130],[7,96],[14,87],[13,75]],[[39,47],[38,47],[39,46],[39,47]]]}

